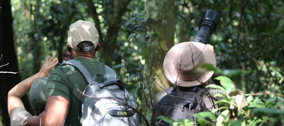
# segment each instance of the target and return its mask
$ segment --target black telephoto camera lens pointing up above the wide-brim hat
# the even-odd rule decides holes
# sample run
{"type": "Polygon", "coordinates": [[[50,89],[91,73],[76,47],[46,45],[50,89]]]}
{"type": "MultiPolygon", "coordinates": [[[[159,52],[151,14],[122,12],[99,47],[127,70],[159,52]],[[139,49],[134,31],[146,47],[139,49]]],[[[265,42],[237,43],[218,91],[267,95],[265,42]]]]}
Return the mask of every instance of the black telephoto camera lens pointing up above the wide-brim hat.
{"type": "Polygon", "coordinates": [[[210,41],[210,35],[216,30],[220,17],[218,12],[214,10],[206,10],[199,22],[199,31],[197,31],[193,42],[201,42],[208,44],[210,41]]]}

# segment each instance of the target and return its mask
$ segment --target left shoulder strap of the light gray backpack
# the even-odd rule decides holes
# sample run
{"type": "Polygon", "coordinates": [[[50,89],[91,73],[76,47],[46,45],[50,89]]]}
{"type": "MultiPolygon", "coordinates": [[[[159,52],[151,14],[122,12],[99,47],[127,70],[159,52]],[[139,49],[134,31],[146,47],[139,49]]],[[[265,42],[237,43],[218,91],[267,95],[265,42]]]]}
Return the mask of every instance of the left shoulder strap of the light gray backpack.
{"type": "Polygon", "coordinates": [[[86,78],[86,80],[89,84],[91,84],[91,82],[93,82],[93,78],[92,78],[91,74],[87,71],[87,69],[79,61],[77,61],[75,59],[71,59],[71,60],[63,62],[60,66],[62,66],[64,64],[68,64],[68,65],[72,65],[72,66],[76,67],[85,76],[85,78],[86,78]]]}

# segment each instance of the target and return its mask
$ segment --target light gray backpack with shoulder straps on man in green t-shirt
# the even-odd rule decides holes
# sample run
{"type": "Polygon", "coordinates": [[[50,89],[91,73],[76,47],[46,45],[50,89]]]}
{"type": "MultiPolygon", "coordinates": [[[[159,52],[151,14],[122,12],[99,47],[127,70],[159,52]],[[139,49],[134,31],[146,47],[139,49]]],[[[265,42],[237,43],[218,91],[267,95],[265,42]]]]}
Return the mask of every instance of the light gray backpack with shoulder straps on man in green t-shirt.
{"type": "Polygon", "coordinates": [[[139,125],[139,116],[135,112],[137,104],[124,89],[122,81],[116,78],[113,69],[105,65],[105,74],[97,73],[91,77],[87,69],[77,60],[68,60],[63,64],[76,67],[89,83],[82,97],[83,126],[139,125]],[[104,82],[101,84],[96,82],[97,76],[104,76],[104,82]]]}

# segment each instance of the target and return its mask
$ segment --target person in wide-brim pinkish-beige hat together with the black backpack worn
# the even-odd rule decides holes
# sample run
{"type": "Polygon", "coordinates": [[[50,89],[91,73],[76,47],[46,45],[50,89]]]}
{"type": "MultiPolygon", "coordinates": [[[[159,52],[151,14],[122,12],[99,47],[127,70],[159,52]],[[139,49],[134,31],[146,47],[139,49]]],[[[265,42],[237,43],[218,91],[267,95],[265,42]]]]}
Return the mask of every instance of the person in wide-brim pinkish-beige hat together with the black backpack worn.
{"type": "Polygon", "coordinates": [[[192,114],[219,108],[214,102],[221,98],[215,98],[214,94],[221,91],[205,88],[214,71],[197,70],[204,63],[216,67],[215,54],[209,44],[182,42],[168,51],[163,68],[173,87],[156,94],[151,125],[169,125],[158,116],[169,116],[174,121],[179,118],[196,121],[192,114]]]}

